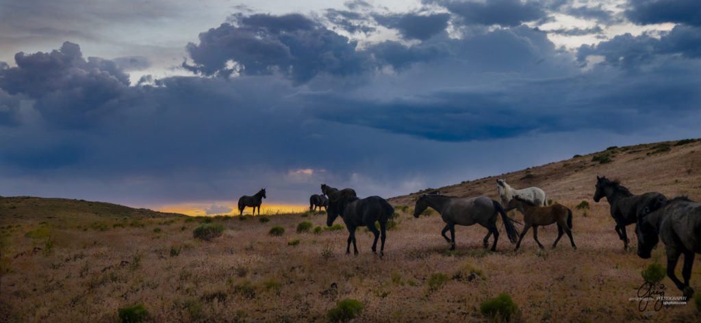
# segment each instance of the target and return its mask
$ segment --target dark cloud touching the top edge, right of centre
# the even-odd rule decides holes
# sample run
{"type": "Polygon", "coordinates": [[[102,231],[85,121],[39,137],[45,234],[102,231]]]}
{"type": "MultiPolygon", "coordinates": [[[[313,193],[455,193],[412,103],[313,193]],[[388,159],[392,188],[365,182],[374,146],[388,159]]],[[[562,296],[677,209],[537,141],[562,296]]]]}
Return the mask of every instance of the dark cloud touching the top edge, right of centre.
{"type": "Polygon", "coordinates": [[[501,25],[513,27],[524,22],[540,20],[547,17],[543,6],[538,1],[492,0],[492,1],[455,1],[427,0],[425,3],[438,4],[451,13],[460,16],[465,25],[501,25]]]}

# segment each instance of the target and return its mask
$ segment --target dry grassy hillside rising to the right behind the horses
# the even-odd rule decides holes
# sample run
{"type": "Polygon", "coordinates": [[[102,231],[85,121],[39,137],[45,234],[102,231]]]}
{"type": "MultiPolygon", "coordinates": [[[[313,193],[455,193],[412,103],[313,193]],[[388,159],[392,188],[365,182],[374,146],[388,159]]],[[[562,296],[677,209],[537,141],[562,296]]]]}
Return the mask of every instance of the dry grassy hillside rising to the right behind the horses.
{"type": "Polygon", "coordinates": [[[701,139],[613,146],[517,172],[427,188],[389,201],[393,205],[413,207],[418,195],[434,190],[440,190],[444,195],[487,195],[498,200],[496,179],[505,179],[513,188],[538,186],[543,188],[548,199],[578,202],[592,200],[597,176],[619,179],[634,194],[658,191],[669,197],[687,195],[693,200],[701,200],[701,139]]]}

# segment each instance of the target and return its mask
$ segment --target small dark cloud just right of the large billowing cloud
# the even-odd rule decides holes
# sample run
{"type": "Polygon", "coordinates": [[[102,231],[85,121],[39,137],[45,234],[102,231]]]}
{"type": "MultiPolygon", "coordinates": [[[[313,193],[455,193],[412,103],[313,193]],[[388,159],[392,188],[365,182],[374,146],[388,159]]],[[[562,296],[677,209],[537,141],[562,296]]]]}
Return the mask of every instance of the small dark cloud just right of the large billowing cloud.
{"type": "Polygon", "coordinates": [[[436,13],[433,15],[375,15],[375,20],[384,27],[399,30],[405,39],[426,41],[435,34],[440,34],[448,27],[450,14],[436,13]]]}

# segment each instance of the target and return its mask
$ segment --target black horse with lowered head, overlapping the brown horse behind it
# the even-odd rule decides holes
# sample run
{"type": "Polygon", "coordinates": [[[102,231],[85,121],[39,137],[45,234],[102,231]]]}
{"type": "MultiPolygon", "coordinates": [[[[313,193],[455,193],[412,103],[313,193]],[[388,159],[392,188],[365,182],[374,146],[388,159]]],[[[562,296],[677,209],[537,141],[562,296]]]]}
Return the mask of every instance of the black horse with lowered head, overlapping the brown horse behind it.
{"type": "MultiPolygon", "coordinates": [[[[376,253],[377,238],[380,236],[382,240],[380,256],[383,256],[385,238],[387,236],[385,233],[387,221],[394,214],[394,207],[392,207],[387,200],[379,196],[359,199],[355,196],[347,195],[336,200],[330,200],[329,209],[338,210],[343,219],[343,223],[345,223],[346,228],[348,228],[348,247],[346,247],[346,254],[351,253],[351,242],[353,242],[353,252],[358,254],[358,247],[355,246],[355,228],[367,226],[367,229],[375,235],[375,240],[372,242],[372,252],[376,253]],[[375,228],[376,221],[380,223],[380,231],[375,228]]],[[[326,225],[332,226],[337,216],[337,214],[327,212],[326,225]]]]}

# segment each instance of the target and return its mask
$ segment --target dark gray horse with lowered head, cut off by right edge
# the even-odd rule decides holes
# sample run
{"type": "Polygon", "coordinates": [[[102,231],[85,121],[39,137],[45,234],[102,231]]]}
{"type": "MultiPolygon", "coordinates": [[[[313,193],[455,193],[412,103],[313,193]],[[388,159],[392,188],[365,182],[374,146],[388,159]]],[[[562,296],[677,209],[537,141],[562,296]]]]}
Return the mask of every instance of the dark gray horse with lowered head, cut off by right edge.
{"type": "Polygon", "coordinates": [[[681,197],[668,200],[656,210],[645,207],[639,214],[635,234],[638,236],[638,256],[642,259],[650,258],[659,235],[667,251],[667,276],[690,299],[694,294],[689,287],[691,267],[695,254],[701,254],[701,203],[681,197]],[[674,275],[681,254],[684,255],[683,284],[674,275]]]}

